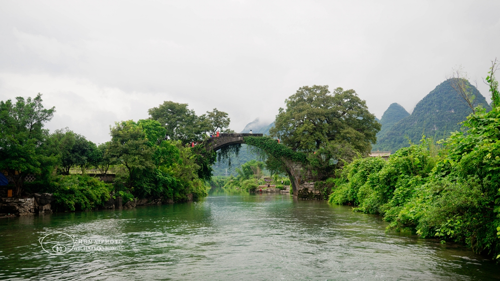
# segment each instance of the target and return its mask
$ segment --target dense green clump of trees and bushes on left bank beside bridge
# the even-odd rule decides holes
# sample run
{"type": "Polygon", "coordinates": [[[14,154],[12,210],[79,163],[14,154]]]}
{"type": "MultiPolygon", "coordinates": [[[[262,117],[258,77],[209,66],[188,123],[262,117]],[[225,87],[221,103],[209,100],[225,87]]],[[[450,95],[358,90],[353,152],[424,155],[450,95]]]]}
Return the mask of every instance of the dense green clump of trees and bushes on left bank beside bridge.
{"type": "Polygon", "coordinates": [[[111,128],[109,153],[126,168],[116,178],[118,190],[174,202],[206,195],[197,155],[180,141],[165,140],[164,131],[155,120],[122,121],[111,128]]]}

